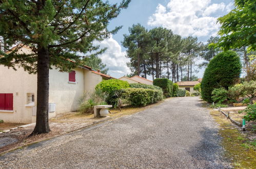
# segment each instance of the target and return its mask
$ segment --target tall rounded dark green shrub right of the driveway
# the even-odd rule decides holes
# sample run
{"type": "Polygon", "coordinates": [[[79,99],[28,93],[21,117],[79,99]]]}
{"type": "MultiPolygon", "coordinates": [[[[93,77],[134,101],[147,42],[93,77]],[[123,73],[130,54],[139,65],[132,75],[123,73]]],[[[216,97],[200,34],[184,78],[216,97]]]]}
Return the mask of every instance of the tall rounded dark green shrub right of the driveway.
{"type": "Polygon", "coordinates": [[[225,88],[234,85],[241,73],[240,57],[234,51],[226,51],[213,57],[205,69],[201,82],[202,98],[212,102],[212,91],[216,88],[225,88]]]}

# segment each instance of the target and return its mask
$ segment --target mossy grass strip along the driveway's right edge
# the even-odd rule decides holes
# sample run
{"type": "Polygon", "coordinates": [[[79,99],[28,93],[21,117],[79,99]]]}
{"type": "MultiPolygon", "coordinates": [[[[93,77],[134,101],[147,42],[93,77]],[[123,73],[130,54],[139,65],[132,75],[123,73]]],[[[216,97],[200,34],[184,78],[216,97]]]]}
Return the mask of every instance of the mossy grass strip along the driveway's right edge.
{"type": "Polygon", "coordinates": [[[212,118],[219,124],[225,156],[231,159],[234,168],[254,168],[256,166],[256,140],[248,140],[219,111],[211,111],[212,118]]]}

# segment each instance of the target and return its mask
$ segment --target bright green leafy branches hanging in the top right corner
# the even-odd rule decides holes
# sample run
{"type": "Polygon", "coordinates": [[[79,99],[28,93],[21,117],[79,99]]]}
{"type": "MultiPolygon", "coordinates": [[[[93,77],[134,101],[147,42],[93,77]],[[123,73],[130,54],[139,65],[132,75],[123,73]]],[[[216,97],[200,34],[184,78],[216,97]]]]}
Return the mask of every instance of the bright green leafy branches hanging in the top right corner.
{"type": "Polygon", "coordinates": [[[224,50],[248,47],[248,51],[256,49],[256,1],[235,0],[235,9],[218,18],[221,24],[219,46],[224,50]]]}

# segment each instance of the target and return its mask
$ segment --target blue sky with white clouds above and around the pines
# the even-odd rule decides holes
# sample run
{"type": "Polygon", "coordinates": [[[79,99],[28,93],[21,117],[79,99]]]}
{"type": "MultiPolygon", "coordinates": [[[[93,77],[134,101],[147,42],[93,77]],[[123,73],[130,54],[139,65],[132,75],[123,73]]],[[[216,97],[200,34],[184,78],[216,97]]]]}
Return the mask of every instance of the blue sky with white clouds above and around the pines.
{"type": "MultiPolygon", "coordinates": [[[[121,0],[109,0],[109,3],[120,3],[121,0]]],[[[119,32],[109,39],[98,42],[107,47],[106,52],[99,57],[109,68],[108,74],[120,78],[131,73],[126,63],[126,49],[121,41],[124,34],[129,34],[128,28],[133,24],[141,24],[150,30],[154,27],[171,29],[182,37],[196,36],[204,43],[210,36],[216,36],[219,24],[216,19],[233,9],[231,0],[131,0],[127,9],[123,9],[117,18],[110,21],[109,30],[123,26],[119,32]]],[[[200,64],[198,60],[196,64],[200,64]]],[[[195,75],[203,77],[204,69],[195,75]]],[[[149,76],[150,79],[151,76],[149,76]]]]}

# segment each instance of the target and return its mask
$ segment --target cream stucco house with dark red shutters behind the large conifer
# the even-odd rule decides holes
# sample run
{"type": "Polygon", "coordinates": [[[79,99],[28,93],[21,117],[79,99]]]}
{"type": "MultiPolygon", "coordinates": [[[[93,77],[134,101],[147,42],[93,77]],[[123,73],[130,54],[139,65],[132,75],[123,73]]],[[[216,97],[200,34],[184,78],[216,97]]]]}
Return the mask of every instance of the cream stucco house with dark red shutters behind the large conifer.
{"type": "MultiPolygon", "coordinates": [[[[24,46],[18,52],[32,52],[24,46]]],[[[78,98],[84,91],[111,76],[92,70],[88,66],[68,72],[49,70],[49,118],[56,114],[76,111],[78,98]]],[[[23,68],[17,71],[0,65],[0,119],[5,122],[31,123],[36,119],[37,75],[23,68]]]]}

